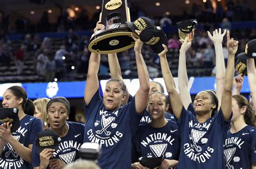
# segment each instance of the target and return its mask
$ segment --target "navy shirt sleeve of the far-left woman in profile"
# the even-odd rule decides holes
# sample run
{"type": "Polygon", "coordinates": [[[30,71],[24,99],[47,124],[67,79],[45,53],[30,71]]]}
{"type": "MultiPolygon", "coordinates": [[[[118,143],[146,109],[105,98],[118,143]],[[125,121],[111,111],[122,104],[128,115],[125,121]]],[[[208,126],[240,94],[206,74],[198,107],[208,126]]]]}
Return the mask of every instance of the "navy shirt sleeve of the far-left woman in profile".
{"type": "Polygon", "coordinates": [[[29,144],[33,144],[38,133],[43,130],[43,123],[39,118],[32,118],[29,131],[29,144]]]}

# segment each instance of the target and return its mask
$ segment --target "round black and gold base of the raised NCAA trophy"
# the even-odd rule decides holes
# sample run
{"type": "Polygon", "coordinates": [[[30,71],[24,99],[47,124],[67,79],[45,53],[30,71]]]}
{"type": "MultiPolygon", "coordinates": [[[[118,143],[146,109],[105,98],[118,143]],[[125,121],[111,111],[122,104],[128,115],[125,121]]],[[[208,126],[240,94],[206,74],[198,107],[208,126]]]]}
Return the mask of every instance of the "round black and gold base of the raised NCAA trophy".
{"type": "Polygon", "coordinates": [[[131,37],[138,38],[126,24],[116,25],[113,29],[100,30],[92,34],[89,51],[97,54],[109,54],[125,51],[135,45],[131,37]]]}

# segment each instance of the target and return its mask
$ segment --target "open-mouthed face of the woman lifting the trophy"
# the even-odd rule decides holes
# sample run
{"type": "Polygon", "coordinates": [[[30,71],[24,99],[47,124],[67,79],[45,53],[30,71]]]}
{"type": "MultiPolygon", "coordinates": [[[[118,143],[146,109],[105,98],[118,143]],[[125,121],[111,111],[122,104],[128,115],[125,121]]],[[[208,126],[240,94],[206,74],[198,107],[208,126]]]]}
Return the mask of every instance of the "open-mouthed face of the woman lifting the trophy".
{"type": "Polygon", "coordinates": [[[107,110],[118,109],[123,100],[125,100],[125,94],[120,84],[116,81],[108,82],[103,95],[105,108],[107,110]]]}

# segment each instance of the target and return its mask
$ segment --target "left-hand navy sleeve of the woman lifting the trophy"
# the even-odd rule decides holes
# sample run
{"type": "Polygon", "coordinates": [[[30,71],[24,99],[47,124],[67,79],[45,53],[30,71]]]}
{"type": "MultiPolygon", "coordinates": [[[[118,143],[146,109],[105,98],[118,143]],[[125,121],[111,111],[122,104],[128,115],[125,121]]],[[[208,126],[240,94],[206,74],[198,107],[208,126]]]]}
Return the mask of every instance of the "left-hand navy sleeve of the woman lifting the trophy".
{"type": "Polygon", "coordinates": [[[93,111],[93,109],[95,109],[95,107],[97,105],[99,105],[100,103],[103,103],[102,98],[99,96],[99,89],[96,91],[96,93],[93,95],[90,103],[88,105],[85,104],[84,102],[84,115],[85,115],[85,119],[87,119],[87,117],[89,117],[93,111]]]}

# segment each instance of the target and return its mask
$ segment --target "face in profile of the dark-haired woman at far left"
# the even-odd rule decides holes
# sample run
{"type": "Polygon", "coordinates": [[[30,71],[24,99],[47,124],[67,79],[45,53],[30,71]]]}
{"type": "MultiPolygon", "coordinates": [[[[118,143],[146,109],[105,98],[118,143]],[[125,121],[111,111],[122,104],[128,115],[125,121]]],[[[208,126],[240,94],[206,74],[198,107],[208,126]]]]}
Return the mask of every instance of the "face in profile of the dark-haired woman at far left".
{"type": "Polygon", "coordinates": [[[10,89],[5,90],[3,94],[2,105],[4,108],[21,108],[23,98],[17,98],[10,89]]]}

